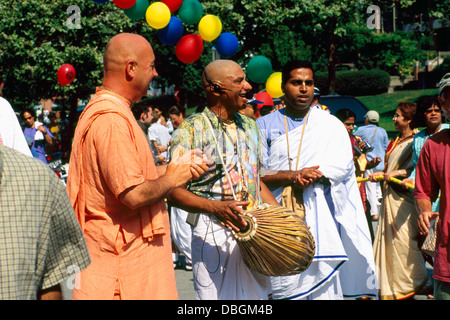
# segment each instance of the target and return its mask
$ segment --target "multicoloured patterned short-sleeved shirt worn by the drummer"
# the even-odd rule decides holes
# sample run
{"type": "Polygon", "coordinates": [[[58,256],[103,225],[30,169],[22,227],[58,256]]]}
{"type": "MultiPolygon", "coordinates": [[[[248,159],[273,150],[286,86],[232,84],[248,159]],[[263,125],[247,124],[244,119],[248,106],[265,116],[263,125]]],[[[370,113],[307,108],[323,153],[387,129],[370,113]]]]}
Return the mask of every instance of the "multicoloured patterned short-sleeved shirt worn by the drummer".
{"type": "Polygon", "coordinates": [[[216,200],[231,200],[234,193],[236,200],[250,201],[249,208],[255,199],[260,201],[262,157],[259,129],[253,119],[235,113],[235,121],[225,123],[205,108],[184,120],[172,134],[172,159],[193,149],[202,150],[214,165],[199,180],[192,181],[188,187],[192,193],[216,200]]]}

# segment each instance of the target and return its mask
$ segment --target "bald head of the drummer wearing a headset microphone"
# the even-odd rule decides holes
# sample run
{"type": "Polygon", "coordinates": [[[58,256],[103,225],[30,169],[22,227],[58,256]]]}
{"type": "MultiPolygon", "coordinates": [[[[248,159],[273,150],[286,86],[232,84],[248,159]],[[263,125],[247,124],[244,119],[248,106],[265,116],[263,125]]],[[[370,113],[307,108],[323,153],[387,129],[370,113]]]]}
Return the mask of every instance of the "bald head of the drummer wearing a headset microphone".
{"type": "Polygon", "coordinates": [[[241,66],[232,60],[215,60],[202,72],[208,106],[224,106],[228,112],[245,107],[245,94],[252,89],[241,66]]]}

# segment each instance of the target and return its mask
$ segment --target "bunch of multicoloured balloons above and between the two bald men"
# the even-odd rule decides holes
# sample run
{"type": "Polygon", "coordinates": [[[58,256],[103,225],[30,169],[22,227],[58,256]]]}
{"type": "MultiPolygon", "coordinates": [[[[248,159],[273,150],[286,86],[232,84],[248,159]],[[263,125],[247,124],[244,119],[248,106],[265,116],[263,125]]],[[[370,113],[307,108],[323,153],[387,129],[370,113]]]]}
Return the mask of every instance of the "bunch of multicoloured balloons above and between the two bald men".
{"type": "MultiPolygon", "coordinates": [[[[93,0],[98,4],[108,0],[93,0]]],[[[215,15],[203,16],[203,6],[198,0],[161,0],[150,4],[150,0],[113,0],[133,20],[144,19],[157,29],[159,40],[166,45],[175,45],[175,54],[183,63],[193,63],[203,52],[204,41],[215,41],[220,56],[229,58],[239,47],[236,36],[222,33],[222,22],[215,15]],[[177,12],[177,16],[173,15],[177,12]],[[198,34],[183,35],[183,24],[198,23],[198,34]]]]}

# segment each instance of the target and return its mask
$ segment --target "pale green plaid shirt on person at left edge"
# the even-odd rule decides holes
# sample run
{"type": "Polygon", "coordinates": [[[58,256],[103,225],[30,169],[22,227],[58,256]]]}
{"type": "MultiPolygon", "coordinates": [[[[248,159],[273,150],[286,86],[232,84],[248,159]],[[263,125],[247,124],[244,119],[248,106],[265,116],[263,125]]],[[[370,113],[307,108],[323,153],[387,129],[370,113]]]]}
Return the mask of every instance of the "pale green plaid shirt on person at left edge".
{"type": "Polygon", "coordinates": [[[0,145],[0,299],[36,299],[39,290],[73,278],[89,263],[56,174],[0,145]]]}

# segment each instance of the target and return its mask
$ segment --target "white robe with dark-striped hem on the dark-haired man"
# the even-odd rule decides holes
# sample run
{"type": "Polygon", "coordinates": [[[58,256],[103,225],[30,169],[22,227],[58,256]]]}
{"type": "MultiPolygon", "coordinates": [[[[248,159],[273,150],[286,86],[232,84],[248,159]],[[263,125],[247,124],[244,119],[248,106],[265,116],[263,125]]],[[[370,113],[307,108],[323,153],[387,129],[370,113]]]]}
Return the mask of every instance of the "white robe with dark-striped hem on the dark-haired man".
{"type": "MultiPolygon", "coordinates": [[[[290,157],[296,163],[302,127],[289,131],[290,157]]],[[[260,128],[261,129],[261,128],[260,128]]],[[[262,138],[266,135],[261,129],[262,138]]],[[[305,222],[316,242],[311,266],[299,275],[272,277],[274,299],[304,299],[335,276],[344,297],[377,297],[372,242],[358,190],[347,131],[336,117],[311,109],[298,168],[320,165],[331,186],[304,189],[305,222]]],[[[289,170],[286,135],[270,143],[266,168],[289,170]]],[[[272,190],[281,201],[283,187],[272,190]]],[[[280,202],[281,203],[281,202],[280,202]]]]}

